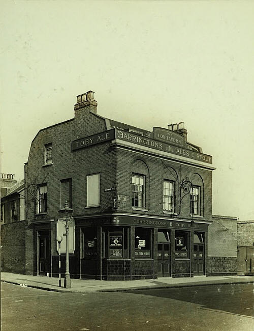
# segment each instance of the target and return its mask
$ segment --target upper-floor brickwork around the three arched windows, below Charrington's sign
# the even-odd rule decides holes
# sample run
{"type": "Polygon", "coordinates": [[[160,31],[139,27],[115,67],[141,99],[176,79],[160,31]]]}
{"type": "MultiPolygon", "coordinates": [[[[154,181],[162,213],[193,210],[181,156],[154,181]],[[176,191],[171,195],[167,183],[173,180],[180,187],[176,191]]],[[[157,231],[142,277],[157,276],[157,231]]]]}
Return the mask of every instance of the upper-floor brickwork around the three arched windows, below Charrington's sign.
{"type": "MultiPolygon", "coordinates": [[[[147,167],[146,178],[146,206],[149,215],[167,216],[163,212],[163,180],[165,178],[165,168],[169,169],[168,173],[174,171],[174,180],[180,182],[188,177],[193,184],[201,186],[201,215],[203,220],[211,220],[211,205],[212,205],[212,174],[211,171],[199,169],[185,164],[179,164],[174,161],[166,161],[148,155],[137,156],[137,153],[117,149],[117,194],[127,197],[126,203],[118,205],[119,211],[139,213],[132,209],[132,173],[138,173],[139,168],[141,174],[147,167]],[[141,168],[142,164],[142,168],[141,168]],[[148,185],[149,184],[149,185],[148,185]]],[[[179,199],[177,200],[179,206],[179,199]]],[[[143,211],[141,212],[143,213],[143,211]]],[[[181,206],[179,218],[192,219],[190,216],[190,200],[187,195],[181,206]]],[[[193,217],[195,218],[195,216],[193,217]]],[[[196,217],[200,219],[200,217],[196,217]]]]}

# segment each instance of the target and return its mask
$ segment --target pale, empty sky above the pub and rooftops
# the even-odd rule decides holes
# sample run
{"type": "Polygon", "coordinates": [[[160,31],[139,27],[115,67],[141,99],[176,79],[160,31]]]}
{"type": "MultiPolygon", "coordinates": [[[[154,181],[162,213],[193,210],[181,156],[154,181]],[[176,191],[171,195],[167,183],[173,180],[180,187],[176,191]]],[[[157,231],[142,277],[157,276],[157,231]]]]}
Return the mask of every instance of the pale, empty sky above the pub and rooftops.
{"type": "Polygon", "coordinates": [[[31,141],[97,113],[143,129],[184,122],[213,156],[216,215],[254,217],[254,2],[1,2],[1,172],[24,178],[31,141]]]}

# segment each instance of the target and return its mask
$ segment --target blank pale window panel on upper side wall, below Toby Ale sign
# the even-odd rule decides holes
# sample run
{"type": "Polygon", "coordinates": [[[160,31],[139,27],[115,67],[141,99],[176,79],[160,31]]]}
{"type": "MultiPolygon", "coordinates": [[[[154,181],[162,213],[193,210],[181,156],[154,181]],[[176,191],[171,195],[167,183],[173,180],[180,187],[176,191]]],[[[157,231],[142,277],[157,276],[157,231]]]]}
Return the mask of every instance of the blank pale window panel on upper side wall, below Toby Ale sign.
{"type": "Polygon", "coordinates": [[[101,174],[86,175],[86,207],[100,206],[101,174]],[[94,184],[92,183],[94,181],[94,184]],[[96,185],[96,186],[91,186],[96,185]],[[90,192],[91,191],[91,192],[90,192]],[[93,194],[93,197],[91,196],[93,194]]]}

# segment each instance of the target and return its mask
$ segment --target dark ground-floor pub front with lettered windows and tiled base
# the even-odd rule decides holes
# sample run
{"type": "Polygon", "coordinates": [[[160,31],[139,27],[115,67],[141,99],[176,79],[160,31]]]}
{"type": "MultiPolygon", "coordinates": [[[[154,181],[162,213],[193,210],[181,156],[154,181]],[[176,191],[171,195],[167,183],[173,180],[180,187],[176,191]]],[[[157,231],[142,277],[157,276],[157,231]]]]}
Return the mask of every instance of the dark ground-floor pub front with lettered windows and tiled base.
{"type": "Polygon", "coordinates": [[[76,227],[81,279],[205,274],[208,223],[120,215],[76,219],[76,227]]]}

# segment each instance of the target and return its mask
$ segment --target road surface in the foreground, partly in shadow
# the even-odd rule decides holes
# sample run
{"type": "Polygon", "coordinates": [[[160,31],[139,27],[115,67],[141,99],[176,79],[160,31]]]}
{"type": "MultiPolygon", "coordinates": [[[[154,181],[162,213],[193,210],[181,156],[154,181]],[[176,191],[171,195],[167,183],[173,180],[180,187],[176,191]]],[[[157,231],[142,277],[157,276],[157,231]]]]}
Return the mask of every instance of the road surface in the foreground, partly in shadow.
{"type": "Polygon", "coordinates": [[[252,284],[58,293],[2,283],[3,331],[253,331],[252,284]]]}

